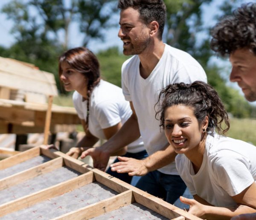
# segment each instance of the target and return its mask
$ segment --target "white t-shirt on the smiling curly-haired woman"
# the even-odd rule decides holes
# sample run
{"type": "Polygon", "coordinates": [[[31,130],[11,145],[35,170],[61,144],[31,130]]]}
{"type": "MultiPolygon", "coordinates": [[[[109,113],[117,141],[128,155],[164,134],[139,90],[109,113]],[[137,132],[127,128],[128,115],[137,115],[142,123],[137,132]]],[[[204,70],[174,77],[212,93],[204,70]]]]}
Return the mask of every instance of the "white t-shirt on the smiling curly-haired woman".
{"type": "Polygon", "coordinates": [[[232,199],[256,181],[256,147],[241,140],[208,134],[204,159],[195,174],[184,154],[175,158],[180,177],[192,195],[213,206],[234,206],[232,199]]]}

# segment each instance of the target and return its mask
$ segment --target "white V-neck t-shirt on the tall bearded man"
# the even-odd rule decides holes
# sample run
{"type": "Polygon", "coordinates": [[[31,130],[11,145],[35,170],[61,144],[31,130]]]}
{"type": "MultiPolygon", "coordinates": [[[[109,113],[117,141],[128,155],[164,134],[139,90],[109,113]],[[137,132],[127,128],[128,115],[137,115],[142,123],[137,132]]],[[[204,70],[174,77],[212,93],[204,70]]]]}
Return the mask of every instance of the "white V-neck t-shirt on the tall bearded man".
{"type": "MultiPolygon", "coordinates": [[[[204,69],[186,52],[165,44],[165,49],[158,64],[148,78],[140,75],[140,58],[138,55],[125,61],[122,65],[122,90],[127,101],[132,101],[137,114],[140,134],[149,155],[163,149],[168,143],[160,121],[155,119],[154,105],[160,90],[173,83],[191,83],[207,81],[204,69]]],[[[159,169],[164,174],[178,175],[175,162],[159,169]]]]}

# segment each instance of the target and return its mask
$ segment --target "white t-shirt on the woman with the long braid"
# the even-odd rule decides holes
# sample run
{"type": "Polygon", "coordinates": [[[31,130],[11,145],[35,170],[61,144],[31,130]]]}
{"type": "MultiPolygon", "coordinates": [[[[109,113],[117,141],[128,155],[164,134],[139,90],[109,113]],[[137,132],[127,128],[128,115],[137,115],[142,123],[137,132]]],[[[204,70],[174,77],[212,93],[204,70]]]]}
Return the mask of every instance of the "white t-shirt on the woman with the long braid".
{"type": "MultiPolygon", "coordinates": [[[[87,101],[83,97],[73,93],[73,103],[80,119],[86,120],[87,101]]],[[[106,139],[103,130],[112,127],[119,122],[124,124],[131,116],[132,111],[128,101],[122,94],[122,89],[104,80],[94,87],[90,96],[89,105],[89,131],[99,139],[106,139]]],[[[143,140],[140,137],[128,145],[128,152],[137,153],[144,151],[143,140]]]]}

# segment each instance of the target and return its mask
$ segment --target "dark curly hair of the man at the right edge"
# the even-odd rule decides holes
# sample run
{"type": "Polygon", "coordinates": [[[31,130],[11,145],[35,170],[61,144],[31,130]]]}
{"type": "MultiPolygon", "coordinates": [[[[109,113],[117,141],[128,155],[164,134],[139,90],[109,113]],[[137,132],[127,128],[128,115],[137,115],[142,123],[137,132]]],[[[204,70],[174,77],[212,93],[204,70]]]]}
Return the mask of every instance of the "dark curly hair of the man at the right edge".
{"type": "Polygon", "coordinates": [[[256,3],[242,4],[212,29],[211,48],[222,56],[248,48],[256,55],[256,3]]]}

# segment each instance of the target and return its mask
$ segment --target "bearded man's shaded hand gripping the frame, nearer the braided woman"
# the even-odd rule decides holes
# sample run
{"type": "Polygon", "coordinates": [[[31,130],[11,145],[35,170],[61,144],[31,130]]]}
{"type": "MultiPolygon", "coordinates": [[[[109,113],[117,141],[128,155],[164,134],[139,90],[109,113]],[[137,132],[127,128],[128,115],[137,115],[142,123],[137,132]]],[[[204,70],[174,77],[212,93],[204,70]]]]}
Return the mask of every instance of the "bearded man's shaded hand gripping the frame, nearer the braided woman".
{"type": "Polygon", "coordinates": [[[110,154],[103,151],[100,147],[89,148],[81,154],[81,159],[86,156],[91,156],[93,158],[93,167],[98,168],[101,171],[105,171],[110,154]]]}

